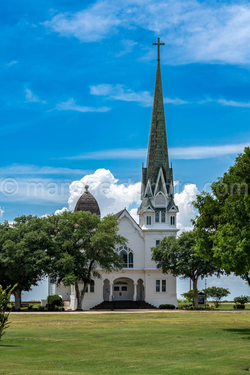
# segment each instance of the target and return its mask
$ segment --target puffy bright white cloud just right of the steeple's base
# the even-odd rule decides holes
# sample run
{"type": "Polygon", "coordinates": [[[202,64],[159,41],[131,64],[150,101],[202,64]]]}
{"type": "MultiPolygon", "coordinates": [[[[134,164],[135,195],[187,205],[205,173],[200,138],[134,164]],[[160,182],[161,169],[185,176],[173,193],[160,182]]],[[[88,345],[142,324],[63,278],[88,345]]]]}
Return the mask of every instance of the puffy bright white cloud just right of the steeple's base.
{"type": "Polygon", "coordinates": [[[174,201],[180,211],[177,214],[177,228],[180,229],[178,234],[192,230],[190,219],[194,219],[197,214],[192,205],[192,201],[196,199],[196,194],[199,194],[199,190],[195,184],[187,184],[182,192],[175,193],[174,201]]]}

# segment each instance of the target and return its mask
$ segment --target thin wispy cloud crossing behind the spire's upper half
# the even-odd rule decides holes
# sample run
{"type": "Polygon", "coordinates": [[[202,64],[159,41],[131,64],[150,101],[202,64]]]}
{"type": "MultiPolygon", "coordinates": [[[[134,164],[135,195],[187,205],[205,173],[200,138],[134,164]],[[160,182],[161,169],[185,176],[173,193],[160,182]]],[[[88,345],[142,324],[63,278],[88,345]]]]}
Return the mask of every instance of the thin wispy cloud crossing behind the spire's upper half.
{"type": "MultiPolygon", "coordinates": [[[[102,83],[96,86],[90,86],[90,94],[104,96],[108,100],[120,100],[124,102],[138,102],[143,107],[151,107],[153,104],[153,96],[149,91],[138,91],[135,92],[131,89],[127,89],[124,85],[106,84],[102,83]]],[[[187,104],[189,102],[179,98],[171,99],[165,98],[164,103],[166,104],[187,104]]]]}

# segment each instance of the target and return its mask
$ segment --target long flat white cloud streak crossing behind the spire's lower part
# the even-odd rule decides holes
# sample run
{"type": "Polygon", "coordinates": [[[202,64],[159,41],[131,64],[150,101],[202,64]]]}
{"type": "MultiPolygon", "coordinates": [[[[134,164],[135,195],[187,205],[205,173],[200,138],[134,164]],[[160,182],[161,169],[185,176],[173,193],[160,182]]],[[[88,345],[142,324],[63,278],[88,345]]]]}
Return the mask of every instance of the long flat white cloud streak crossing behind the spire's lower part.
{"type": "MultiPolygon", "coordinates": [[[[244,151],[250,142],[218,145],[218,146],[192,146],[169,147],[170,159],[210,159],[225,155],[237,154],[244,151]]],[[[112,159],[145,159],[147,148],[114,148],[113,150],[90,151],[75,156],[60,157],[67,160],[112,160],[112,159]]]]}

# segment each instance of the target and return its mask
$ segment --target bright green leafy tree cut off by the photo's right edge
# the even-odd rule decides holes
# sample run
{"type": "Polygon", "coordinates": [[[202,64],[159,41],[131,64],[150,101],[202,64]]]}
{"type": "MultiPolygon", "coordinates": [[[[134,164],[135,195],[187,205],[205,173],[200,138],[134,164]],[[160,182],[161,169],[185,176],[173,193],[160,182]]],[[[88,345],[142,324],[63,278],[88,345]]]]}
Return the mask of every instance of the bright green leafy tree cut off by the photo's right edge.
{"type": "Polygon", "coordinates": [[[193,202],[199,256],[240,276],[250,286],[250,147],[193,202]]]}

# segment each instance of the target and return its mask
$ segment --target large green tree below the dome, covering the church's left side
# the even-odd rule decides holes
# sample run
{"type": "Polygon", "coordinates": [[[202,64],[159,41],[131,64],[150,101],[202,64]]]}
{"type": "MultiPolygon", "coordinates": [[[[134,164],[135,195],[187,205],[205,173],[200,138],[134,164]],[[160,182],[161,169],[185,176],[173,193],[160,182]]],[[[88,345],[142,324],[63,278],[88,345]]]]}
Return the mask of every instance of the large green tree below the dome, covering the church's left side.
{"type": "Polygon", "coordinates": [[[101,278],[100,270],[121,269],[123,261],[115,247],[126,245],[127,239],[118,234],[115,215],[101,219],[88,211],[64,211],[48,216],[48,220],[54,243],[50,280],[75,285],[77,309],[81,310],[88,284],[101,278]]]}

